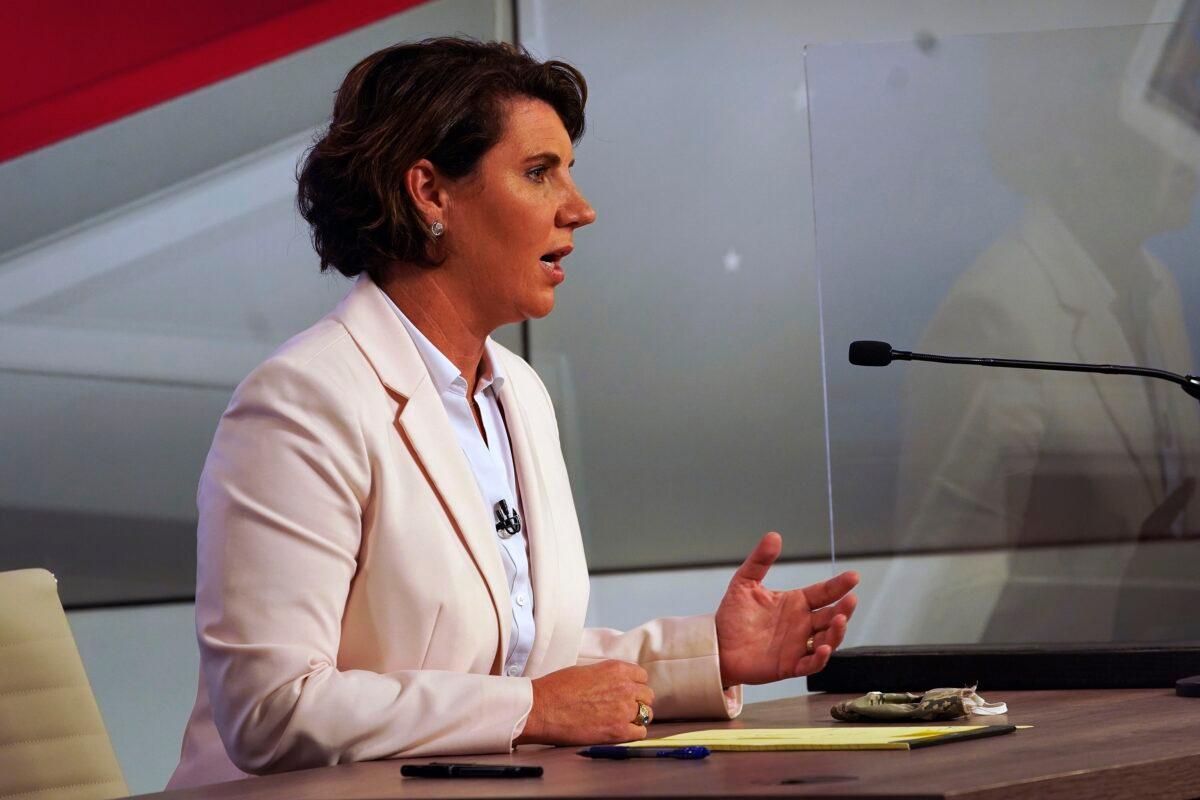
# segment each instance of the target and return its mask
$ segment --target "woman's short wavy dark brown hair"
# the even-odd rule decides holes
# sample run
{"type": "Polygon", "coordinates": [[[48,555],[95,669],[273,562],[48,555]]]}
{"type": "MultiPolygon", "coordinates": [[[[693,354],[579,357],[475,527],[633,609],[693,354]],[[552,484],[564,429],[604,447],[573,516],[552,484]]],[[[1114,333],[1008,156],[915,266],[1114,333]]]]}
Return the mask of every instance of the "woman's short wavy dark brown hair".
{"type": "Polygon", "coordinates": [[[430,38],[362,59],[296,176],[322,271],[367,271],[378,282],[396,263],[436,266],[408,169],[428,158],[451,179],[469,175],[503,136],[503,104],[514,97],[548,103],[578,142],[587,96],[571,65],[506,43],[430,38]]]}

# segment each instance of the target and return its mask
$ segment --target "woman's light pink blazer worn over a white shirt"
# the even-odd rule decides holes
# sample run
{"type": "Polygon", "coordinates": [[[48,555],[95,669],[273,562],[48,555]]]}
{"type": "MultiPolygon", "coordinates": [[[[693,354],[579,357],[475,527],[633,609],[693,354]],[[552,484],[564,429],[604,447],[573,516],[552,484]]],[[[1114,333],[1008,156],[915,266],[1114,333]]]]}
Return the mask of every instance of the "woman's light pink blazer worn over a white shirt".
{"type": "Polygon", "coordinates": [[[508,752],[532,678],[604,658],[649,672],[658,718],[738,714],[712,615],[584,630],[553,408],[529,365],[497,350],[533,571],[527,675],[499,674],[511,613],[491,510],[415,345],[361,277],[221,419],[198,494],[199,690],[168,788],[508,752]]]}

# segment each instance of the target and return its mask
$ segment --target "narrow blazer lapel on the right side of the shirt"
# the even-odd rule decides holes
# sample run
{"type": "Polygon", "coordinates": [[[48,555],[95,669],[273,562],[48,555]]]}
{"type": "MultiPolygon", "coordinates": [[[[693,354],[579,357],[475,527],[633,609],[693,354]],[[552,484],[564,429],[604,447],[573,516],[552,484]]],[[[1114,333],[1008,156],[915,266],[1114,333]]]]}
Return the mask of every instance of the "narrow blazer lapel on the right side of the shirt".
{"type": "MultiPolygon", "coordinates": [[[[494,351],[494,350],[493,350],[494,351]]],[[[500,387],[500,407],[512,445],[512,463],[517,470],[521,504],[526,516],[526,539],[529,542],[529,566],[533,572],[533,619],[536,633],[529,664],[540,664],[550,645],[557,614],[556,591],[559,579],[558,547],[556,542],[553,505],[546,495],[546,481],[538,456],[536,434],[521,402],[512,369],[508,363],[508,379],[500,387]]],[[[524,389],[528,391],[528,387],[524,389]]]]}

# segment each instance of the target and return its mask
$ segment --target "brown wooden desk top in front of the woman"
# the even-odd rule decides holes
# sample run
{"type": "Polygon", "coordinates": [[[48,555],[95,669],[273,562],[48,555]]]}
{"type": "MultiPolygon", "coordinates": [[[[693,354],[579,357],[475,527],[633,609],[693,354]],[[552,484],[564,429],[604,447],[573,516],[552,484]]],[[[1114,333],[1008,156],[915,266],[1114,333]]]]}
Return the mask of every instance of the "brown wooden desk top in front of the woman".
{"type": "MultiPolygon", "coordinates": [[[[838,724],[846,694],[749,705],[731,727],[838,724]]],[[[702,762],[590,760],[575,748],[462,759],[541,764],[542,778],[402,778],[400,760],[348,764],[156,795],[167,800],[325,798],[1200,798],[1200,699],[1170,690],[986,692],[1031,730],[913,751],[713,753],[702,762]]],[[[650,726],[668,735],[720,723],[650,726]]]]}

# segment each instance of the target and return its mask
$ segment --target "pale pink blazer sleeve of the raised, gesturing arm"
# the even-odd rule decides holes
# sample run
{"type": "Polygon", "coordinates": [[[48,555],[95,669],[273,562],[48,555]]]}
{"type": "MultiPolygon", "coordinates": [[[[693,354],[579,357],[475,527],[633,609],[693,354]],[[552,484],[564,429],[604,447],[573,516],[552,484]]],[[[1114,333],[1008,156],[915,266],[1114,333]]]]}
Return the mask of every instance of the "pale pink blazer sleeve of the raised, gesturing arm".
{"type": "Polygon", "coordinates": [[[712,614],[667,616],[625,632],[584,628],[578,663],[608,658],[637,663],[646,669],[654,690],[658,720],[728,720],[742,712],[742,687],[721,687],[712,614]]]}

